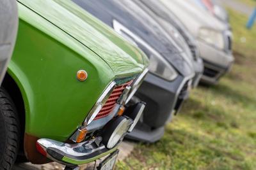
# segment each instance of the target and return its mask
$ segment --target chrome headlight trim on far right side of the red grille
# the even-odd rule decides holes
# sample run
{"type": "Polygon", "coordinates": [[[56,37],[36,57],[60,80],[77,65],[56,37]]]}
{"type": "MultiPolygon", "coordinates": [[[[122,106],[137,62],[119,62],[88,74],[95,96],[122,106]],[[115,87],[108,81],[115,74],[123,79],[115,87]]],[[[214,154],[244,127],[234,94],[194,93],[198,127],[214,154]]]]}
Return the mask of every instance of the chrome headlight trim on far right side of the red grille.
{"type": "Polygon", "coordinates": [[[145,76],[148,73],[148,68],[146,68],[141,74],[140,76],[138,76],[138,78],[136,78],[136,80],[134,81],[134,83],[132,83],[132,88],[130,90],[130,93],[128,94],[127,98],[125,99],[125,104],[127,104],[132,96],[134,96],[134,94],[136,93],[136,91],[139,89],[141,83],[143,82],[145,76]]]}

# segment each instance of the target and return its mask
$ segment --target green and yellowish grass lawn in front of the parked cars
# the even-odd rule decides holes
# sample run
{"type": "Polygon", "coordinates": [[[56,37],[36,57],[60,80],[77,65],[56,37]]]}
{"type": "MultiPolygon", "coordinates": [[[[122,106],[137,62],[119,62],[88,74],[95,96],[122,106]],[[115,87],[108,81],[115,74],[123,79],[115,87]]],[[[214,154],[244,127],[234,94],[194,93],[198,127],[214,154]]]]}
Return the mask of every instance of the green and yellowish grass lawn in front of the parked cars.
{"type": "Polygon", "coordinates": [[[117,169],[256,169],[256,27],[228,10],[236,63],[218,85],[191,92],[161,141],[139,144],[117,169]]]}

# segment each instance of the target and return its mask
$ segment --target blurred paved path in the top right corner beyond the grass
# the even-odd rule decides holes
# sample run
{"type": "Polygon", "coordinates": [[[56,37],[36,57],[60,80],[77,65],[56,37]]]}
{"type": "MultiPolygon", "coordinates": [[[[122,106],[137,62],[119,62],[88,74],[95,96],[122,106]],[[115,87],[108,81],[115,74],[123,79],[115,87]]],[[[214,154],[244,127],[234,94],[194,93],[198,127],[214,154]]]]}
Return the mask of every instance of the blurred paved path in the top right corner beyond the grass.
{"type": "Polygon", "coordinates": [[[236,0],[218,0],[219,3],[224,4],[225,6],[228,6],[229,8],[233,8],[236,11],[239,11],[241,13],[244,13],[245,15],[250,16],[253,11],[253,7],[247,6],[244,3],[240,3],[236,0]]]}

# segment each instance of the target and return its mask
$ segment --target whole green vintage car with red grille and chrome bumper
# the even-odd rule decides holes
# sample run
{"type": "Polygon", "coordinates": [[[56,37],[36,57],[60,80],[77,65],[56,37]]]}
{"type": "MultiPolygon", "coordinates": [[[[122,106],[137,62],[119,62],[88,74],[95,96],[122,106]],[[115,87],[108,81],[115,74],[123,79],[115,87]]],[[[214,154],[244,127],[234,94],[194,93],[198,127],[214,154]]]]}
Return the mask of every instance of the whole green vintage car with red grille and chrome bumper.
{"type": "Polygon", "coordinates": [[[17,41],[0,92],[0,169],[22,153],[66,169],[109,155],[99,169],[113,167],[145,108],[127,103],[147,56],[69,0],[17,2],[17,41]]]}

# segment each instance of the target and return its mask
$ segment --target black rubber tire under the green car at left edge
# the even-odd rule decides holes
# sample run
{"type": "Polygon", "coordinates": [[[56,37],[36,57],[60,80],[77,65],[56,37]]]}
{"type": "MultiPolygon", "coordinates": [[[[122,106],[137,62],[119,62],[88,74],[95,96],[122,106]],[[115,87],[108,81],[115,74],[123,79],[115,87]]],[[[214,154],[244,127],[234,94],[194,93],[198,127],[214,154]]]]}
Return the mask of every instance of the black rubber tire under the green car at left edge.
{"type": "Polygon", "coordinates": [[[16,108],[6,90],[0,88],[0,169],[9,170],[19,152],[20,124],[16,108]]]}

